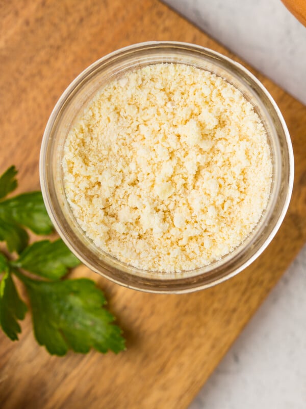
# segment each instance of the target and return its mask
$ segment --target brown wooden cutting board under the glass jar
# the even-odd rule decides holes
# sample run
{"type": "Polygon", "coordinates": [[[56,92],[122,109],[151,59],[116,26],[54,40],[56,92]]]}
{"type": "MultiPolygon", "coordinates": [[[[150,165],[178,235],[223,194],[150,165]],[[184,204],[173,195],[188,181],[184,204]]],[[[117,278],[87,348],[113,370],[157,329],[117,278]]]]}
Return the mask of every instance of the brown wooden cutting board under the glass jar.
{"type": "MultiPolygon", "coordinates": [[[[70,81],[99,57],[135,42],[179,40],[240,61],[157,0],[7,0],[0,21],[0,172],[17,166],[19,192],[39,188],[48,116],[70,81]]],[[[237,277],[179,296],[129,290],[78,268],[74,276],[105,290],[127,351],[49,356],[36,344],[28,314],[18,342],[0,334],[2,409],[180,409],[192,401],[306,238],[306,108],[251,71],[281,108],[295,151],[290,209],[268,249],[237,277]]]]}

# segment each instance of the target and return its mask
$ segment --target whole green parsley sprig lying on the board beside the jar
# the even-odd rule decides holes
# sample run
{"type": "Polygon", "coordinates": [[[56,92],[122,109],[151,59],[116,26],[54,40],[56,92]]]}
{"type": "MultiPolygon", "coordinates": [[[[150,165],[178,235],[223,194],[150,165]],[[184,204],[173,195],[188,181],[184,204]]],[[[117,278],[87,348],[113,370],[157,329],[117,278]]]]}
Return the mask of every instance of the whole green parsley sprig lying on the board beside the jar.
{"type": "Polygon", "coordinates": [[[16,174],[12,166],[0,176],[0,241],[6,242],[11,253],[0,252],[2,330],[10,339],[18,339],[18,321],[28,310],[16,289],[17,278],[27,290],[37,342],[50,354],[65,355],[69,349],[81,353],[90,348],[104,353],[123,350],[121,329],[113,324],[114,316],[104,307],[104,294],[95,283],[85,278],[63,280],[69,269],[80,263],[64,242],[41,240],[29,245],[25,228],[46,235],[53,232],[53,225],[41,192],[6,199],[17,187],[16,174]],[[31,277],[24,270],[32,273],[31,277]]]}

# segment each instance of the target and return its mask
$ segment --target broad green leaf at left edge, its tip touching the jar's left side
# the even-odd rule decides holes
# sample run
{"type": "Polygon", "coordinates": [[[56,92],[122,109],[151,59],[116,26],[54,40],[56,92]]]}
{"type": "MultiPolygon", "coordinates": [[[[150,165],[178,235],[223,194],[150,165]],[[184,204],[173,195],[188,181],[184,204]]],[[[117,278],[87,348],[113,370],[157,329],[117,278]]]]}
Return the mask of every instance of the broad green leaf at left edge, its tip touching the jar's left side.
{"type": "Polygon", "coordinates": [[[26,226],[36,234],[53,231],[41,192],[23,193],[0,202],[0,218],[26,226]]]}

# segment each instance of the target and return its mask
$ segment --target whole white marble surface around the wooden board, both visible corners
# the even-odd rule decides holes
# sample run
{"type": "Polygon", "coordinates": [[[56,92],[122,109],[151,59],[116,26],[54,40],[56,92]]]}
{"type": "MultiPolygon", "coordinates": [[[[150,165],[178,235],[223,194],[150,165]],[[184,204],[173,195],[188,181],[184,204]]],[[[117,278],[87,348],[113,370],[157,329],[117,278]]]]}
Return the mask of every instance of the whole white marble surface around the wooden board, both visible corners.
{"type": "MultiPolygon", "coordinates": [[[[280,0],[165,0],[306,104],[306,28],[280,0]]],[[[306,408],[306,246],[189,409],[306,408]]]]}

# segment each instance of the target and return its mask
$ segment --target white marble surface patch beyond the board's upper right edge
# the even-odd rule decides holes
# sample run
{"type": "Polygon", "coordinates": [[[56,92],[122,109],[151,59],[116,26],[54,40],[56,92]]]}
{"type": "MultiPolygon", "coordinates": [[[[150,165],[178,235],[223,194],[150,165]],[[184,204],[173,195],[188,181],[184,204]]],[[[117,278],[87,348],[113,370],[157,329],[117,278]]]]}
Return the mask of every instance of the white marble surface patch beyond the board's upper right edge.
{"type": "Polygon", "coordinates": [[[306,104],[306,28],[281,0],[164,2],[306,104]]]}

